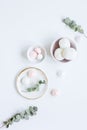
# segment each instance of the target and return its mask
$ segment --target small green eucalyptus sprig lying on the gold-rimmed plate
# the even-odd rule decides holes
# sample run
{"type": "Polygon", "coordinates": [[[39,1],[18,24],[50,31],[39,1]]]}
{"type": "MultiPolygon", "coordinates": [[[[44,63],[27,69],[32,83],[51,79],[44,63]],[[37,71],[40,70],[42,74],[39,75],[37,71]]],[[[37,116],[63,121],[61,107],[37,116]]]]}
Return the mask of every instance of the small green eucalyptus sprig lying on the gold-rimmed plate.
{"type": "Polygon", "coordinates": [[[39,80],[37,84],[35,84],[33,87],[29,87],[26,89],[26,92],[34,92],[39,91],[39,87],[41,84],[46,84],[45,80],[39,80]]]}

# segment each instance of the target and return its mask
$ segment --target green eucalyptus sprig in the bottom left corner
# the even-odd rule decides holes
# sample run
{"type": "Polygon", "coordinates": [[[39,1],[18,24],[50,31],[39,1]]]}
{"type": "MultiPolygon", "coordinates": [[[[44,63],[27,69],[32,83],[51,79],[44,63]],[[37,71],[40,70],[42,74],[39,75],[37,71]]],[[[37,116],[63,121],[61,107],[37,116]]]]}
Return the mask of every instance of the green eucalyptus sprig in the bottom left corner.
{"type": "Polygon", "coordinates": [[[3,126],[6,126],[6,128],[9,128],[10,125],[12,125],[14,122],[19,122],[21,119],[28,120],[29,116],[36,115],[38,108],[36,106],[30,106],[28,109],[26,109],[23,112],[16,113],[11,118],[9,118],[7,121],[3,122],[3,126]]]}

